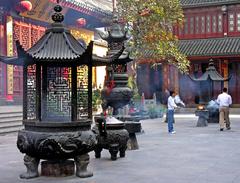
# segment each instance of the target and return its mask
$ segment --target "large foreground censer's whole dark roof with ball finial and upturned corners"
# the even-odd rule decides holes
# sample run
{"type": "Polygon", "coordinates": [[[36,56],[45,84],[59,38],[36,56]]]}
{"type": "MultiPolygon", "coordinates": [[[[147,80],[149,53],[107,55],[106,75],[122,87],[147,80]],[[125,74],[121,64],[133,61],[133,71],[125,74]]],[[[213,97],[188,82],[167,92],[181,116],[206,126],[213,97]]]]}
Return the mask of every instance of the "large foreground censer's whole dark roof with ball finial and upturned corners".
{"type": "Polygon", "coordinates": [[[64,16],[60,13],[62,7],[56,5],[55,13],[52,15],[54,23],[46,30],[43,37],[37,41],[30,49],[25,51],[19,42],[17,45],[17,57],[0,56],[0,60],[12,65],[29,65],[35,63],[69,63],[81,62],[87,64],[84,54],[91,57],[92,42],[87,48],[82,46],[70,33],[69,29],[64,27],[62,21],[64,16]],[[81,58],[81,59],[80,59],[81,58]]]}

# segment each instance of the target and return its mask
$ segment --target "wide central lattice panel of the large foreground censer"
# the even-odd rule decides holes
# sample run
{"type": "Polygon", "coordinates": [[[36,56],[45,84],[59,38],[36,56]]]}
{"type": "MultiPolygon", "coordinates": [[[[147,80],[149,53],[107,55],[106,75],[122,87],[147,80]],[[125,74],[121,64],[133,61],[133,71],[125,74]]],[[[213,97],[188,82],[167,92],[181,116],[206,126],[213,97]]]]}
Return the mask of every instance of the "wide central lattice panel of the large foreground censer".
{"type": "Polygon", "coordinates": [[[47,68],[46,119],[71,120],[71,68],[47,68]]]}

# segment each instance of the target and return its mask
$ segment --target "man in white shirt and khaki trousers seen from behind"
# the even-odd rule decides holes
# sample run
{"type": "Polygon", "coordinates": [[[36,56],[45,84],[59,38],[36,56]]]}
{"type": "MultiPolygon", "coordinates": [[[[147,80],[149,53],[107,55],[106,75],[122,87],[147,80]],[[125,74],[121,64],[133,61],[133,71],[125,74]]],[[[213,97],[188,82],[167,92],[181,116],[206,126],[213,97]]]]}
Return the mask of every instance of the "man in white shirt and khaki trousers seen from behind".
{"type": "Polygon", "coordinates": [[[230,130],[229,106],[232,104],[232,97],[227,94],[227,88],[223,88],[223,92],[218,95],[217,103],[219,104],[220,131],[223,131],[225,127],[230,130]]]}

